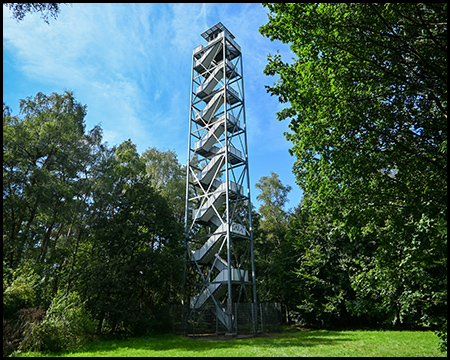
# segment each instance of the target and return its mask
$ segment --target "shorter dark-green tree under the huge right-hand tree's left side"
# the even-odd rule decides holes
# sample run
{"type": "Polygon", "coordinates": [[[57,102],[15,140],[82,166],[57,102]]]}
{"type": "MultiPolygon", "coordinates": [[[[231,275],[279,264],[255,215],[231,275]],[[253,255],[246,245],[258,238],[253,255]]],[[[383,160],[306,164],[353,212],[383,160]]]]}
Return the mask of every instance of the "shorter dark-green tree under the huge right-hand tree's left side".
{"type": "MultiPolygon", "coordinates": [[[[360,311],[355,277],[372,264],[377,249],[372,234],[349,241],[342,224],[327,214],[310,211],[311,196],[305,194],[289,219],[285,241],[297,254],[293,272],[298,277],[292,308],[300,323],[320,327],[368,326],[387,318],[377,302],[360,311]]],[[[339,206],[339,204],[336,204],[339,206]]]]}

